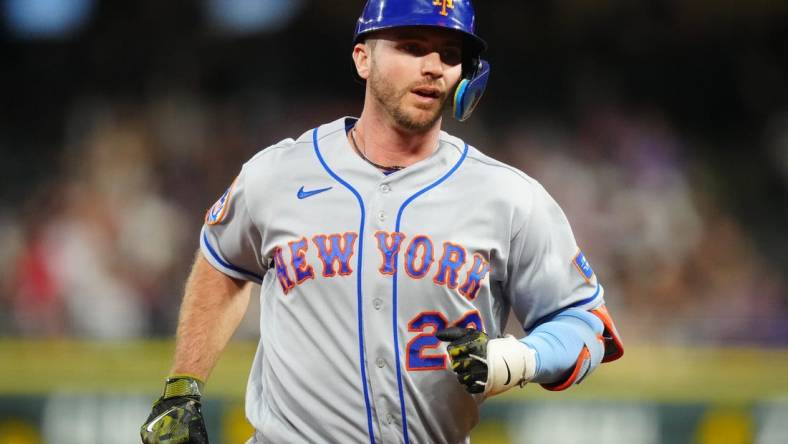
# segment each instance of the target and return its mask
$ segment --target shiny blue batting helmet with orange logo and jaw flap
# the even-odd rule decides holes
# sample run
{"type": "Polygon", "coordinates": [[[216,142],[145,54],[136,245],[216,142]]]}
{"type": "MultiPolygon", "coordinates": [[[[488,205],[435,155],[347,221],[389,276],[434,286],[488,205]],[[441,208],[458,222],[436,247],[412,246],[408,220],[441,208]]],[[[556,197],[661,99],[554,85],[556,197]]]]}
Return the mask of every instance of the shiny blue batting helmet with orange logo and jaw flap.
{"type": "Polygon", "coordinates": [[[446,28],[465,36],[469,62],[454,93],[453,115],[470,117],[487,87],[490,64],[479,58],[487,43],[476,35],[476,13],[470,0],[368,0],[356,24],[353,43],[372,32],[404,26],[446,28]]]}

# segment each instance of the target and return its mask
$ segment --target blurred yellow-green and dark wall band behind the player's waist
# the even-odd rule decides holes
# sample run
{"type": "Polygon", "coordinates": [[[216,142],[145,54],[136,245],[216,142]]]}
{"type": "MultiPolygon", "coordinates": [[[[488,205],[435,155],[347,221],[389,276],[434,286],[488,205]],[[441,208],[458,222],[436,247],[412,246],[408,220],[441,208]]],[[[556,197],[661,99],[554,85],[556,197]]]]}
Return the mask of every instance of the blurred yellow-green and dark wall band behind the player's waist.
{"type": "MultiPolygon", "coordinates": [[[[212,443],[243,442],[256,344],[230,345],[211,377],[212,443]]],[[[139,442],[170,341],[0,340],[0,444],[139,442]]],[[[487,401],[475,444],[788,443],[788,350],[629,346],[583,385],[487,401]]]]}

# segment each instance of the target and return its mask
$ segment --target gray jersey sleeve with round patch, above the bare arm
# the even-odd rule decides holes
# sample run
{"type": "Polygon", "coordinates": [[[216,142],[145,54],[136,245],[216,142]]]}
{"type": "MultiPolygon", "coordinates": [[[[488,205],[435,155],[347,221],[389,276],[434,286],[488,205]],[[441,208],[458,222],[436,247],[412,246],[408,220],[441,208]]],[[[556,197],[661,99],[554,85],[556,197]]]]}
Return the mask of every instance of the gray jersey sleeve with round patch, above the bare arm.
{"type": "Polygon", "coordinates": [[[261,253],[260,230],[247,205],[245,174],[244,168],[205,214],[200,248],[208,262],[222,273],[260,283],[267,264],[261,253]]]}

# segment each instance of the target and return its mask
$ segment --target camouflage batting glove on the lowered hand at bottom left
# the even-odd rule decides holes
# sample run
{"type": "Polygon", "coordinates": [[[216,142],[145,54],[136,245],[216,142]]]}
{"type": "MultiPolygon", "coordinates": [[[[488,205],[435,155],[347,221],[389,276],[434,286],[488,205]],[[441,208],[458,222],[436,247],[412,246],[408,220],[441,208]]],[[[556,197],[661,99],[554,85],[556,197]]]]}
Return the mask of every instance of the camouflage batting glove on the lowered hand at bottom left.
{"type": "Polygon", "coordinates": [[[202,381],[190,376],[171,376],[164,394],[154,404],[140,428],[144,444],[208,444],[200,397],[202,381]]]}

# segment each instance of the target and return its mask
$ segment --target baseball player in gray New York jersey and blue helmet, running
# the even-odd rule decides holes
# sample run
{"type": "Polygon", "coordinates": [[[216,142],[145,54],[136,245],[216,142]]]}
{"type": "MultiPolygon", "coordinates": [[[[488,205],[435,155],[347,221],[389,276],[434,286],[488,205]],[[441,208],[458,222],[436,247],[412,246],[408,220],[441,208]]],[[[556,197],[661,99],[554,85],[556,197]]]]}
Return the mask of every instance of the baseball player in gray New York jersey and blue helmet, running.
{"type": "Polygon", "coordinates": [[[359,118],[252,157],[205,217],[146,443],[207,442],[200,397],[261,284],[250,443],[468,442],[488,397],[623,353],[556,202],[441,131],[489,75],[469,0],[369,0],[359,118]],[[525,338],[503,337],[510,312],[525,338]]]}

